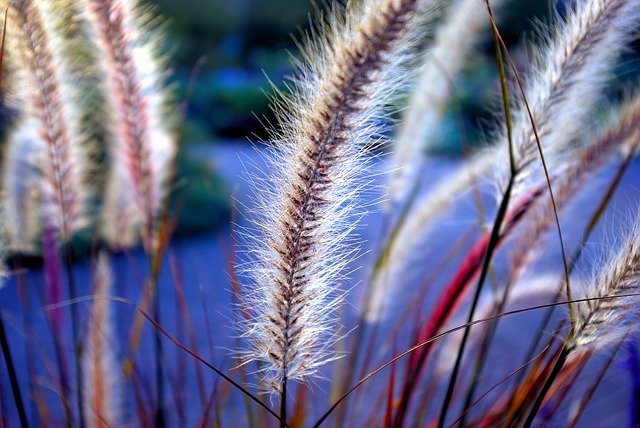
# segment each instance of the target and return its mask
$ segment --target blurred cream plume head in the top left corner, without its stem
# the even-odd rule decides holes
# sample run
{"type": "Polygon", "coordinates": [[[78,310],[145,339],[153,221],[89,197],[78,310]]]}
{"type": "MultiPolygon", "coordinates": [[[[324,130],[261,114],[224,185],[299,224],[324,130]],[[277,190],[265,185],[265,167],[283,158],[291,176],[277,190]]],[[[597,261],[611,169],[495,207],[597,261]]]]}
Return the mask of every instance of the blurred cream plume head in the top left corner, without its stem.
{"type": "Polygon", "coordinates": [[[10,5],[9,58],[18,61],[14,90],[23,105],[23,120],[29,126],[35,124],[43,143],[43,217],[48,227],[67,240],[85,225],[88,190],[72,89],[65,84],[65,69],[59,60],[62,46],[45,19],[50,16],[46,2],[13,0],[10,5]]]}

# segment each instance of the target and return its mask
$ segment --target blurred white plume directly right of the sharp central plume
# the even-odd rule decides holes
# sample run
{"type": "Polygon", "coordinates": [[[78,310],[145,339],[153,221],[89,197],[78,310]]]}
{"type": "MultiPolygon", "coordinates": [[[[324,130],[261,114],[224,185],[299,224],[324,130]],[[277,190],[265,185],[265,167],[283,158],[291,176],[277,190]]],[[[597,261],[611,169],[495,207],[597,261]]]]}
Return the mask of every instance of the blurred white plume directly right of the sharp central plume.
{"type": "MultiPolygon", "coordinates": [[[[500,6],[504,0],[492,2],[500,6]]],[[[444,21],[435,30],[434,41],[424,55],[418,80],[400,122],[394,142],[392,201],[402,200],[434,142],[442,113],[455,81],[473,48],[489,29],[489,15],[478,0],[456,0],[447,7],[444,21]]]]}

